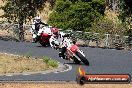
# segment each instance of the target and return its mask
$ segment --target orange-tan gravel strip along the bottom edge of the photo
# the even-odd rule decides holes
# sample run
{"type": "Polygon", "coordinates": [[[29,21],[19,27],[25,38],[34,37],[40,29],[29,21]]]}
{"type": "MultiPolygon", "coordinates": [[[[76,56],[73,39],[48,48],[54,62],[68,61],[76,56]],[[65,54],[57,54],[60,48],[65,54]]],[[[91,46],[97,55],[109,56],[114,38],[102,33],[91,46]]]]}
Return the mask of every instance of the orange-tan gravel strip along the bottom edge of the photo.
{"type": "Polygon", "coordinates": [[[0,88],[132,88],[132,84],[0,83],[0,88]]]}

